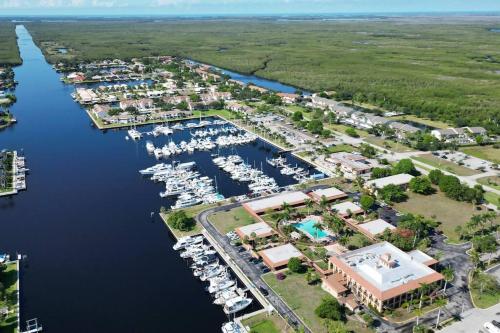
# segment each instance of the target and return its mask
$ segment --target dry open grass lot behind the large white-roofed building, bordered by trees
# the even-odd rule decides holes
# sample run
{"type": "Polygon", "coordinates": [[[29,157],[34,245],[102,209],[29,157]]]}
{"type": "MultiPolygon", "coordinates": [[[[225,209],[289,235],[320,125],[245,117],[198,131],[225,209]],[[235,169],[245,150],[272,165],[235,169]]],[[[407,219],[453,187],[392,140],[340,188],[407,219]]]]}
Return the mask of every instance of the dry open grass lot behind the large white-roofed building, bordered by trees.
{"type": "Polygon", "coordinates": [[[484,213],[474,208],[474,205],[447,198],[443,193],[420,195],[408,192],[406,202],[396,203],[394,207],[405,213],[420,214],[441,222],[439,229],[448,236],[450,242],[459,242],[455,227],[464,226],[472,215],[484,213]]]}

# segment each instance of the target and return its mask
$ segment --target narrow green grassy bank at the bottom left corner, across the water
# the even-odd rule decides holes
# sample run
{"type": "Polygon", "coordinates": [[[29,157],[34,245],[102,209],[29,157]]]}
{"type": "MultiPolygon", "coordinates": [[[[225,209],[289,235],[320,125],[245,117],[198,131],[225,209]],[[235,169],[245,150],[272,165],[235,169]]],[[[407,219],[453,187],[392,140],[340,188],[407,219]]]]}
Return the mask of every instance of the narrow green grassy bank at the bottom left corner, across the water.
{"type": "Polygon", "coordinates": [[[0,321],[0,333],[15,333],[17,332],[17,265],[11,263],[7,265],[6,270],[0,276],[0,282],[5,287],[6,299],[0,300],[0,308],[8,306],[12,311],[7,317],[0,321]]]}

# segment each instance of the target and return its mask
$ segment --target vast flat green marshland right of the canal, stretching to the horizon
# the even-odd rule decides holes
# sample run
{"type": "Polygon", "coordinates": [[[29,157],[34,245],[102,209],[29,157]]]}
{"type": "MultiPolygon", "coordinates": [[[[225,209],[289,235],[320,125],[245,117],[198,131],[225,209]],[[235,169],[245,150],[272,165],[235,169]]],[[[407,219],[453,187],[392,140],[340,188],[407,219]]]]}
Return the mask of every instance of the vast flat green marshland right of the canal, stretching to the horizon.
{"type": "Polygon", "coordinates": [[[30,22],[51,62],[171,54],[500,132],[498,17],[30,22]],[[48,54],[54,42],[69,53],[48,54]]]}

